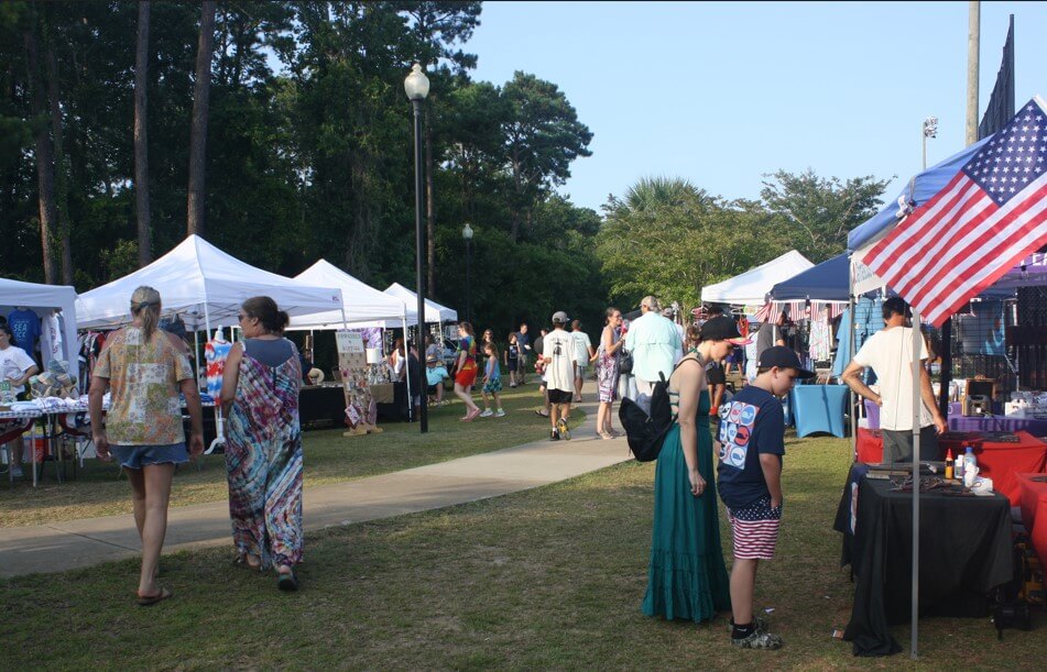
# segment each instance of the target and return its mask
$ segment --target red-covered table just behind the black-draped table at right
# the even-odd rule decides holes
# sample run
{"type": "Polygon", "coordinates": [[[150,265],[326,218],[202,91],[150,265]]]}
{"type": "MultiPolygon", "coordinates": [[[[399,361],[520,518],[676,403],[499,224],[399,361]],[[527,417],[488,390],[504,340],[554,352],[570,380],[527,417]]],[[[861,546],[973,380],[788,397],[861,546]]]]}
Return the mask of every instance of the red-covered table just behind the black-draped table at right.
{"type": "MultiPolygon", "coordinates": [[[[1000,441],[1002,437],[979,432],[947,432],[938,439],[939,460],[951,450],[959,456],[970,445],[978,458],[982,476],[992,478],[993,489],[1003,493],[1014,506],[1018,504],[1018,484],[1015,474],[1039,473],[1047,461],[1047,443],[1028,432],[1015,432],[1016,441],[1000,441]]],[[[858,462],[879,463],[883,460],[883,432],[879,429],[858,430],[858,462]]]]}

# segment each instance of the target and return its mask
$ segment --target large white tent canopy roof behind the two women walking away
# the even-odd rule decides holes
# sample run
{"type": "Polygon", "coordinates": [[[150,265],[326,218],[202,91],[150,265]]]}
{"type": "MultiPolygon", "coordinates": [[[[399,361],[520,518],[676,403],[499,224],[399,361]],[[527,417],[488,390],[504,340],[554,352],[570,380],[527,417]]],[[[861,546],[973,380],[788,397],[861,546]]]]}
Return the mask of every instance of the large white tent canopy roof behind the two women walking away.
{"type": "Polygon", "coordinates": [[[208,324],[237,323],[240,305],[252,296],[272,297],[290,316],[341,310],[341,290],[312,287],[275,273],[255,268],[222,252],[198,235],[189,235],[174,250],[144,268],[77,299],[77,327],[117,327],[130,321],[131,294],[141,285],[160,291],[165,315],[177,312],[189,330],[208,324]]]}

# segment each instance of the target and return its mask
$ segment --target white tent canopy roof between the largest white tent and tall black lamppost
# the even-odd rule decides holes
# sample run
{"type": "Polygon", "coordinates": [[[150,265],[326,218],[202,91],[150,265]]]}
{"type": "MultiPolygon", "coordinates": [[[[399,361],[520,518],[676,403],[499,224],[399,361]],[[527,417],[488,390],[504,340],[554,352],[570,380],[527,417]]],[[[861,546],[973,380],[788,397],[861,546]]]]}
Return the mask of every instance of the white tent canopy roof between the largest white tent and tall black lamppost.
{"type": "MultiPolygon", "coordinates": [[[[399,326],[404,319],[407,320],[408,324],[417,321],[416,310],[405,306],[403,300],[358,280],[327,260],[316,262],[296,275],[294,279],[306,285],[341,289],[346,322],[389,320],[399,326]]],[[[290,329],[338,329],[341,324],[341,310],[328,310],[291,318],[290,329]]]]}

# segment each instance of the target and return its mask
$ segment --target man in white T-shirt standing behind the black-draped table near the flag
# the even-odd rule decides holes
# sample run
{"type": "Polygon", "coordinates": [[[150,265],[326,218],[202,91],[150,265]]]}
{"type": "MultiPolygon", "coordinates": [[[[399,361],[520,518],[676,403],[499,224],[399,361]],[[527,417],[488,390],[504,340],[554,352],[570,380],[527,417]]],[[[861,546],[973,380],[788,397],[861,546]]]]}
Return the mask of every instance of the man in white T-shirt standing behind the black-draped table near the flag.
{"type": "MultiPolygon", "coordinates": [[[[901,297],[883,302],[885,327],[869,338],[843,371],[843,382],[857,394],[880,406],[880,429],[883,430],[883,462],[913,460],[913,329],[906,327],[912,317],[908,305],[901,297]],[[862,382],[862,372],[876,372],[880,394],[862,382]]],[[[923,338],[919,359],[926,361],[927,345],[923,338]]],[[[938,460],[938,434],[948,423],[935,399],[927,367],[919,367],[919,456],[938,460]]]]}

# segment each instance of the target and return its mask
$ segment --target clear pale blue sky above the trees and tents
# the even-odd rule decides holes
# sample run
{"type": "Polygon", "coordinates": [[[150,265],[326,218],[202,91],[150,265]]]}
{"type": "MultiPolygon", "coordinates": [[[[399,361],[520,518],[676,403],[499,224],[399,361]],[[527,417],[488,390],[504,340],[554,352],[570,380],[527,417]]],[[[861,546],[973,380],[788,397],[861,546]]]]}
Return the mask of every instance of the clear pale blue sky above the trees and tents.
{"type": "MultiPolygon", "coordinates": [[[[1047,3],[982,2],[981,103],[1015,15],[1016,104],[1047,96],[1047,3]]],[[[684,177],[757,198],[778,168],[841,179],[920,168],[960,151],[968,3],[484,2],[465,45],[476,80],[524,70],[558,85],[593,132],[561,191],[600,211],[639,178],[684,177]]]]}

